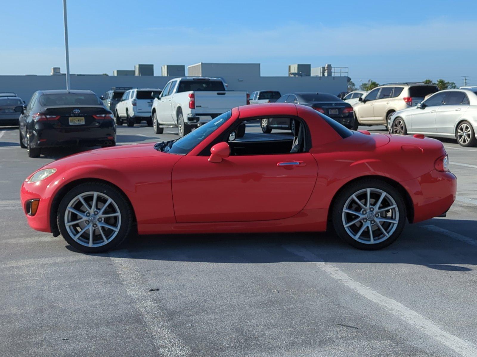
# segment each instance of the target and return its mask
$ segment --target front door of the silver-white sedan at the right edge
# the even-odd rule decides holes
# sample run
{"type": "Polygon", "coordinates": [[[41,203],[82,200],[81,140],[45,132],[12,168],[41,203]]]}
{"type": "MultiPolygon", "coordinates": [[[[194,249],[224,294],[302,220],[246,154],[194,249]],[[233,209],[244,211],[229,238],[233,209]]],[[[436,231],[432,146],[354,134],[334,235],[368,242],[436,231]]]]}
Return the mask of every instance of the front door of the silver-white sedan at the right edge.
{"type": "Polygon", "coordinates": [[[438,92],[429,97],[423,103],[424,108],[412,109],[410,128],[407,131],[435,133],[436,132],[436,111],[442,104],[446,92],[438,92]]]}

